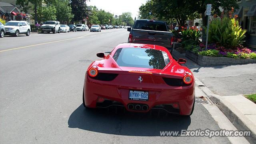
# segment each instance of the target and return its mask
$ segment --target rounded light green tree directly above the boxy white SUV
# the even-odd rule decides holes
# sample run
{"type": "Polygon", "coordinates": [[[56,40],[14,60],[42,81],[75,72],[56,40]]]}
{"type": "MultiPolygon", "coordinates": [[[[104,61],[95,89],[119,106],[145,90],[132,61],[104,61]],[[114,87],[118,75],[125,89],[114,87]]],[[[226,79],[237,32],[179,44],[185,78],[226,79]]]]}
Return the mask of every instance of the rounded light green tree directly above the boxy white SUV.
{"type": "MultiPolygon", "coordinates": [[[[47,20],[56,20],[55,6],[42,6],[38,8],[38,21],[44,22],[47,20]]],[[[34,16],[34,14],[32,14],[34,16]]]]}

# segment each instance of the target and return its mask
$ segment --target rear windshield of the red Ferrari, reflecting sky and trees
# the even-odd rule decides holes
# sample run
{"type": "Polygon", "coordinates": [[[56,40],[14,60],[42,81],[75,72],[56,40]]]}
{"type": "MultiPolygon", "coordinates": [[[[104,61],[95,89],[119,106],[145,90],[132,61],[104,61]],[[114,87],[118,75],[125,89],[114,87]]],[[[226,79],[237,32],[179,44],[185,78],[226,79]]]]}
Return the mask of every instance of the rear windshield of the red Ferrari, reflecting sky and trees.
{"type": "Polygon", "coordinates": [[[119,66],[161,70],[170,62],[166,52],[146,48],[119,48],[113,58],[119,66]]]}

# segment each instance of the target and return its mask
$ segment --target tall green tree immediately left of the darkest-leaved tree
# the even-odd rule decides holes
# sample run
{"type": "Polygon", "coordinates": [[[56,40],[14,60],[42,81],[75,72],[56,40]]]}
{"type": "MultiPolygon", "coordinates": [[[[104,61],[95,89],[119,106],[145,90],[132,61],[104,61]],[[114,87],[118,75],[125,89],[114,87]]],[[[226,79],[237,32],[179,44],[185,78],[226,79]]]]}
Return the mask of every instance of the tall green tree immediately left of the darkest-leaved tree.
{"type": "Polygon", "coordinates": [[[70,21],[73,17],[69,0],[57,0],[56,19],[58,21],[70,21]]]}

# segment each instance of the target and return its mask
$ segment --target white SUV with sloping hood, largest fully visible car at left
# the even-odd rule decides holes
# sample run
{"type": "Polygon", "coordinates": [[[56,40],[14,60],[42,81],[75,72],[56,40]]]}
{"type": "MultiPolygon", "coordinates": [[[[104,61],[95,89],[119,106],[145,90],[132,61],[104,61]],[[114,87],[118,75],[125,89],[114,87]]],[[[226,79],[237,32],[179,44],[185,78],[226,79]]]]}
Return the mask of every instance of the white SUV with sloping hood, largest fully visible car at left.
{"type": "Polygon", "coordinates": [[[20,34],[30,35],[30,24],[26,21],[11,20],[5,24],[6,35],[19,36],[20,34]]]}

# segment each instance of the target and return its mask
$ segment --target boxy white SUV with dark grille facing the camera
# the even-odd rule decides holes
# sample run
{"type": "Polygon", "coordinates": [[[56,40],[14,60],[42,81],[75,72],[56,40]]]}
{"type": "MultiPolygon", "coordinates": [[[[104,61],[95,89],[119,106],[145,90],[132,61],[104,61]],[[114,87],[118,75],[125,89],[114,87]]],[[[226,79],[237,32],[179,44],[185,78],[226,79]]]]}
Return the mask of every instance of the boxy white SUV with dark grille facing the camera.
{"type": "Polygon", "coordinates": [[[44,24],[41,26],[41,32],[52,32],[55,34],[55,32],[60,33],[60,22],[59,21],[46,21],[44,24]]]}

